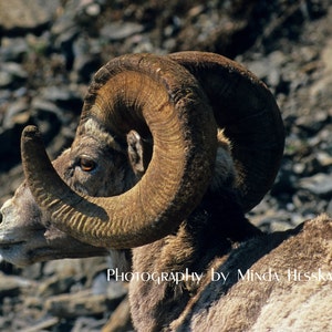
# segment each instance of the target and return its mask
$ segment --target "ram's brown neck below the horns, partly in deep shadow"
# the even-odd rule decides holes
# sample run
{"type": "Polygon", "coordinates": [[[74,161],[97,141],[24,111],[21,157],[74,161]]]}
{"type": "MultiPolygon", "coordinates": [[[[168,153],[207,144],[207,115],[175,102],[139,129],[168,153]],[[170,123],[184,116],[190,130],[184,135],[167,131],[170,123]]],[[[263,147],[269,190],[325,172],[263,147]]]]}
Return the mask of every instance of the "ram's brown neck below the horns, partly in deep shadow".
{"type": "MultiPolygon", "coordinates": [[[[226,190],[222,195],[220,190],[219,195],[207,195],[175,235],[134,249],[133,271],[160,274],[188,269],[206,273],[210,262],[226,257],[237,241],[261,235],[245,219],[231,193],[226,190]]],[[[132,281],[129,300],[135,328],[160,331],[168,326],[186,309],[198,287],[190,278],[178,284],[132,281]]]]}

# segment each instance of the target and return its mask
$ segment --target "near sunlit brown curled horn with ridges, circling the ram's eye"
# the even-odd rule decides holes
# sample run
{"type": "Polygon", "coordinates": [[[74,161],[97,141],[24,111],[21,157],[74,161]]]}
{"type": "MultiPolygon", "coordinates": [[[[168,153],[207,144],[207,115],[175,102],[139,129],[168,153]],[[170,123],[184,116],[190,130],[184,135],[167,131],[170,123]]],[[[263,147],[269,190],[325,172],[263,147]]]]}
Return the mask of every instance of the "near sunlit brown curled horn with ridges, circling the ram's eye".
{"type": "Polygon", "coordinates": [[[145,175],[120,196],[80,196],[59,177],[29,126],[22,162],[37,203],[55,227],[96,247],[142,246],[172,232],[200,201],[214,169],[216,124],[199,83],[167,58],[124,55],[95,74],[80,126],[91,117],[112,132],[148,127],[154,147],[145,175]]]}

